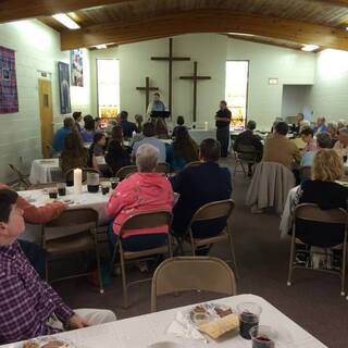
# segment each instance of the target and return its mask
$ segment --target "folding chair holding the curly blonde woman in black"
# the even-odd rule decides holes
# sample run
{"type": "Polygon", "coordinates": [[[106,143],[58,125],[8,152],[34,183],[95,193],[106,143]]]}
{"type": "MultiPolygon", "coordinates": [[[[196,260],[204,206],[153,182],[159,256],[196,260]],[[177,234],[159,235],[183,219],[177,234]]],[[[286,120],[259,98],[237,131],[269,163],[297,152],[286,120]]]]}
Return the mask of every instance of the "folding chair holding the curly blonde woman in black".
{"type": "MultiPolygon", "coordinates": [[[[294,222],[295,223],[294,223],[294,227],[293,227],[289,271],[288,271],[288,279],[287,279],[288,286],[291,285],[294,270],[299,269],[299,268],[337,274],[337,272],[332,271],[332,270],[308,269],[306,266],[296,264],[296,262],[295,262],[296,246],[298,246],[298,245],[308,246],[308,244],[306,244],[301,239],[299,239],[299,237],[297,235],[298,234],[298,231],[296,228],[296,221],[297,220],[310,221],[310,222],[332,223],[332,224],[338,224],[338,225],[345,226],[345,235],[344,235],[343,243],[337,246],[327,248],[327,249],[333,249],[333,250],[335,250],[335,249],[343,250],[341,269],[339,272],[339,276],[341,279],[340,295],[345,296],[346,263],[347,263],[347,222],[348,222],[347,211],[345,211],[344,209],[322,210],[316,204],[311,204],[311,203],[299,204],[295,208],[295,211],[294,211],[294,222]]],[[[306,231],[306,233],[308,233],[308,231],[306,231]]],[[[330,233],[331,233],[331,231],[327,231],[327,234],[330,234],[330,233]]],[[[311,246],[314,246],[314,245],[312,244],[311,246]]]]}

